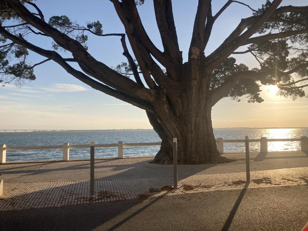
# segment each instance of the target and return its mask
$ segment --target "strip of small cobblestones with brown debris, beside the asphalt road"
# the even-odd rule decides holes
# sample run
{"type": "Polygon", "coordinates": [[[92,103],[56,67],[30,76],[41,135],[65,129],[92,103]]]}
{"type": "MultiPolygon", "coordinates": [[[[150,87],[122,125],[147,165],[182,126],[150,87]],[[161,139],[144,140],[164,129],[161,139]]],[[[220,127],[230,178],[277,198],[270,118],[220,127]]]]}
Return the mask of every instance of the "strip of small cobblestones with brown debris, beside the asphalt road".
{"type": "MultiPolygon", "coordinates": [[[[308,167],[250,172],[248,188],[308,184],[308,167]]],[[[247,187],[245,172],[193,175],[179,178],[172,188],[170,177],[97,180],[95,195],[89,181],[21,183],[0,198],[0,211],[75,205],[91,202],[146,199],[161,195],[233,190],[247,187]]],[[[5,187],[5,182],[4,182],[5,187]]]]}

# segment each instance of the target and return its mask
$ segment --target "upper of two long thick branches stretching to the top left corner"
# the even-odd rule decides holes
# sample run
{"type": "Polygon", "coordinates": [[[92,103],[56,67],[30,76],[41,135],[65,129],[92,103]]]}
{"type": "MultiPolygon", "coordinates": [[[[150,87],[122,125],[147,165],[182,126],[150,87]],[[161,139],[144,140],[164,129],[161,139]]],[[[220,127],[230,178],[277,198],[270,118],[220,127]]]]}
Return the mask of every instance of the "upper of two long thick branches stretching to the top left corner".
{"type": "Polygon", "coordinates": [[[8,2],[8,5],[23,20],[53,38],[64,49],[71,51],[74,58],[78,58],[79,66],[88,75],[98,79],[99,81],[109,85],[112,88],[120,90],[128,95],[144,100],[152,101],[155,95],[154,91],[146,89],[131,79],[120,75],[116,71],[107,67],[105,64],[94,59],[87,50],[75,39],[63,34],[59,30],[53,28],[43,20],[35,17],[22,4],[15,1],[8,2]]]}

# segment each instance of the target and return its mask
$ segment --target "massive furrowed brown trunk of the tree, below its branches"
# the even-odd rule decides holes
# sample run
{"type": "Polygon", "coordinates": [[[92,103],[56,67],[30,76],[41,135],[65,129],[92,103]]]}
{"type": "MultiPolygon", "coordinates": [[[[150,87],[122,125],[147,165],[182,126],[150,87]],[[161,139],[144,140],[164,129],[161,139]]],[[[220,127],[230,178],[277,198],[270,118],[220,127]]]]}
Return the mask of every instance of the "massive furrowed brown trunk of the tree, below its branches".
{"type": "MultiPolygon", "coordinates": [[[[227,163],[229,159],[220,156],[213,134],[211,120],[211,98],[208,81],[197,83],[191,80],[181,92],[181,97],[162,99],[157,106],[156,116],[164,129],[160,151],[152,163],[172,164],[172,138],[177,138],[178,164],[227,163]],[[204,86],[203,86],[204,85],[204,86]]],[[[154,128],[155,129],[155,128],[154,128]]]]}

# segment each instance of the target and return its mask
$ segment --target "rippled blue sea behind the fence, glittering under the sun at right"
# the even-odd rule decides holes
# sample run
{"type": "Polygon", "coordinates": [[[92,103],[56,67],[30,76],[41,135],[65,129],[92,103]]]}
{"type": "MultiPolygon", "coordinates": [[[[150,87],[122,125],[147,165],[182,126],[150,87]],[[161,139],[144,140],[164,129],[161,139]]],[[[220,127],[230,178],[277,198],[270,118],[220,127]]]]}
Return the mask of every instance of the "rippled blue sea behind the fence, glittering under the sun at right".
{"type": "MultiPolygon", "coordinates": [[[[277,129],[214,129],[216,138],[223,139],[268,139],[300,138],[308,136],[306,128],[277,128],[277,129]]],[[[111,144],[123,141],[124,143],[159,142],[160,138],[153,130],[137,131],[97,131],[97,132],[0,132],[0,144],[6,146],[39,146],[39,145],[62,145],[111,144]]],[[[259,151],[260,143],[250,143],[251,151],[259,151]]],[[[124,156],[154,156],[159,146],[125,147],[124,156]]],[[[300,150],[300,142],[269,142],[269,151],[296,151],[300,150]]],[[[225,152],[244,152],[244,143],[226,143],[225,152]]],[[[95,148],[95,158],[117,157],[117,148],[95,148]]],[[[89,148],[70,149],[70,159],[90,158],[89,148]]],[[[6,161],[21,160],[61,160],[62,149],[49,150],[17,150],[7,151],[6,161]]]]}

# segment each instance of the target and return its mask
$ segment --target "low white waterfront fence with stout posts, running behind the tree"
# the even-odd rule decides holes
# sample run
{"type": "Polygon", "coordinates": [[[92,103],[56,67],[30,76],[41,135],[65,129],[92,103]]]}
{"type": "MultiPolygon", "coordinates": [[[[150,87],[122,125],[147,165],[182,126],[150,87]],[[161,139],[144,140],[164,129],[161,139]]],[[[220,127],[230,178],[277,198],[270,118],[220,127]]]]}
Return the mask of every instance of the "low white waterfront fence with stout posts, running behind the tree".
{"type": "MultiPolygon", "coordinates": [[[[248,142],[260,142],[260,152],[267,152],[267,142],[279,142],[279,141],[300,141],[301,150],[308,151],[308,137],[302,136],[301,138],[289,138],[289,139],[267,139],[261,137],[260,139],[249,139],[248,142]]],[[[245,143],[245,140],[224,140],[222,138],[216,139],[217,149],[219,153],[224,153],[224,143],[245,143]]],[[[95,148],[106,148],[106,147],[118,147],[118,158],[123,158],[124,147],[136,147],[136,146],[156,146],[160,145],[161,142],[150,142],[150,143],[123,143],[119,141],[114,144],[95,144],[95,148]]],[[[0,144],[0,164],[6,162],[6,151],[15,150],[41,150],[41,149],[63,149],[63,161],[69,160],[69,149],[71,148],[90,148],[90,144],[69,144],[63,143],[63,145],[44,145],[44,146],[14,146],[7,147],[5,144],[0,144]]],[[[26,161],[25,161],[26,162],[26,161]]]]}

